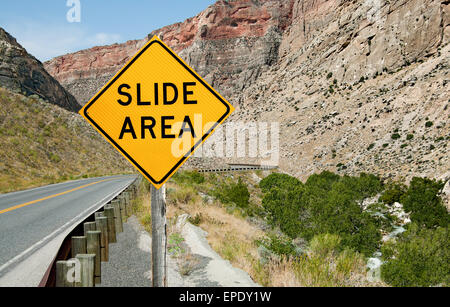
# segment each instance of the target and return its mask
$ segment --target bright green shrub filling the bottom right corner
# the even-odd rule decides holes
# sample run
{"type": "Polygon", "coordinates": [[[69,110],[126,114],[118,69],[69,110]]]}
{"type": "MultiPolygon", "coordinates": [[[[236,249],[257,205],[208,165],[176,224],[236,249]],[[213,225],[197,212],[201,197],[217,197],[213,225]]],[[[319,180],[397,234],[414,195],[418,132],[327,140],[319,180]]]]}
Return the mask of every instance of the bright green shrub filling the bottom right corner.
{"type": "Polygon", "coordinates": [[[383,246],[387,260],[381,266],[381,277],[396,287],[450,285],[449,230],[422,229],[413,224],[397,244],[383,246]]]}

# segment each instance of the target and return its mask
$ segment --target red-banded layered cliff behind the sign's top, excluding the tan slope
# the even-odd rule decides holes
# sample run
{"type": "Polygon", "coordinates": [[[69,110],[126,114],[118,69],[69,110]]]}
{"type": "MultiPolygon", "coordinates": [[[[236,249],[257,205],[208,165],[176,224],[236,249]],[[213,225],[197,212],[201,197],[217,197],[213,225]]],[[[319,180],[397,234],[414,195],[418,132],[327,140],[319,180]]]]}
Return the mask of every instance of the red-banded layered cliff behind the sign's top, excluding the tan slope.
{"type": "Polygon", "coordinates": [[[153,35],[158,35],[223,95],[256,80],[278,59],[293,1],[218,1],[147,38],[95,47],[45,63],[47,71],[85,104],[153,35]],[[238,78],[236,78],[238,76],[238,78]]]}

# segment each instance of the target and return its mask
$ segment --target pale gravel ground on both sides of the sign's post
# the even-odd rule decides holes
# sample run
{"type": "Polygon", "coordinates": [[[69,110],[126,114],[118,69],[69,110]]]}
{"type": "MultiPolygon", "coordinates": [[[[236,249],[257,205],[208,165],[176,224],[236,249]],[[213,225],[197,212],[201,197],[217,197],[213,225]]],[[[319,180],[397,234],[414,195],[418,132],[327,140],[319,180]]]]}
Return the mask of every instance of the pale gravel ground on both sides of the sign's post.
{"type": "MultiPolygon", "coordinates": [[[[254,287],[250,276],[222,259],[208,244],[207,233],[180,217],[184,253],[168,257],[169,287],[254,287]],[[188,259],[188,260],[186,260],[188,259]],[[188,267],[189,269],[184,269],[188,267]]],[[[117,243],[109,245],[109,261],[102,263],[98,287],[150,287],[151,237],[132,216],[124,224],[117,243]]]]}

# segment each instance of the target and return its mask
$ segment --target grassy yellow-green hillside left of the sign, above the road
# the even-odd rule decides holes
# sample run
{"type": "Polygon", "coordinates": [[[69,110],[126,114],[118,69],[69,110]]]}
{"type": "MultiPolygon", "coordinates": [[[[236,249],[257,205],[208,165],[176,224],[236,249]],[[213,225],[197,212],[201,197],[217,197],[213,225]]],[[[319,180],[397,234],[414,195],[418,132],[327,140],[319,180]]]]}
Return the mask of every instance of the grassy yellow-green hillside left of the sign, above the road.
{"type": "Polygon", "coordinates": [[[132,168],[77,114],[0,88],[0,193],[132,168]]]}

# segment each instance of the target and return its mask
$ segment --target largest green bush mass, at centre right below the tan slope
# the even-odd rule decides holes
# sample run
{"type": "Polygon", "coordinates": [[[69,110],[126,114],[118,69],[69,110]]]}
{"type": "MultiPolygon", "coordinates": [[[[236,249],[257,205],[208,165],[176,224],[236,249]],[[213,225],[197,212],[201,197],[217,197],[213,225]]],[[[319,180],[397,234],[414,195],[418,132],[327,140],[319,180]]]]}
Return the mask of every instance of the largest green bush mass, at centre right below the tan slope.
{"type": "Polygon", "coordinates": [[[311,240],[319,234],[337,234],[344,247],[370,255],[381,234],[377,220],[358,202],[381,189],[381,181],[374,175],[341,177],[325,171],[311,175],[304,185],[272,187],[264,194],[262,205],[269,223],[291,238],[311,240]]]}

